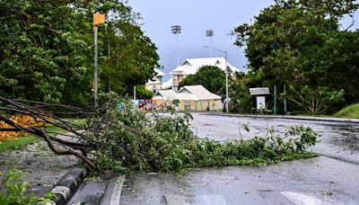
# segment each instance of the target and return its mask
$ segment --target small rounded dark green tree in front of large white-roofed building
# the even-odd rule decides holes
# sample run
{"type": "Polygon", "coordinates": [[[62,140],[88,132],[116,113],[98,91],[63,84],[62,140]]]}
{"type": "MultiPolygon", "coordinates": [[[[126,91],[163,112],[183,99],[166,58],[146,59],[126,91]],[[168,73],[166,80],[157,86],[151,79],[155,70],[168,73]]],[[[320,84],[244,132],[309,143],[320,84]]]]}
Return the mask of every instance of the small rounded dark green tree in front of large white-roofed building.
{"type": "Polygon", "coordinates": [[[203,85],[211,93],[225,97],[225,73],[219,67],[200,67],[195,75],[187,76],[179,86],[184,85],[203,85]]]}

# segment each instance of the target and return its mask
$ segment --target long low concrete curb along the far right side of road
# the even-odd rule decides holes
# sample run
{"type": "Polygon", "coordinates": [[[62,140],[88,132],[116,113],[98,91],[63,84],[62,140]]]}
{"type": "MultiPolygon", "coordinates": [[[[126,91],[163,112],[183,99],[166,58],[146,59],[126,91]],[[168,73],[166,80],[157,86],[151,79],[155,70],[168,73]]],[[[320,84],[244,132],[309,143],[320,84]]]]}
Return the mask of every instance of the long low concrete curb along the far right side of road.
{"type": "Polygon", "coordinates": [[[267,118],[267,119],[286,119],[286,120],[315,120],[315,121],[359,123],[359,119],[305,117],[305,116],[293,116],[293,115],[245,115],[245,114],[225,114],[225,113],[206,113],[206,115],[217,115],[217,116],[227,116],[227,117],[246,117],[246,118],[265,118],[265,119],[267,118]]]}

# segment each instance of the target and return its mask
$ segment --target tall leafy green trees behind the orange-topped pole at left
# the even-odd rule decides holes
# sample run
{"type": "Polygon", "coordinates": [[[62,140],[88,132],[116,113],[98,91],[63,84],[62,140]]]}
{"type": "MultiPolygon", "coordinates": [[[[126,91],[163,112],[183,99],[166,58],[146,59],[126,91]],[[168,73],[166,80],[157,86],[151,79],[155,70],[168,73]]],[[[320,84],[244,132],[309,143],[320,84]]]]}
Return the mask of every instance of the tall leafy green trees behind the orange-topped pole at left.
{"type": "Polygon", "coordinates": [[[92,14],[99,28],[100,88],[132,94],[153,75],[158,55],[126,3],[0,1],[0,95],[76,106],[92,102],[92,14]],[[107,57],[107,58],[105,58],[107,57]]]}

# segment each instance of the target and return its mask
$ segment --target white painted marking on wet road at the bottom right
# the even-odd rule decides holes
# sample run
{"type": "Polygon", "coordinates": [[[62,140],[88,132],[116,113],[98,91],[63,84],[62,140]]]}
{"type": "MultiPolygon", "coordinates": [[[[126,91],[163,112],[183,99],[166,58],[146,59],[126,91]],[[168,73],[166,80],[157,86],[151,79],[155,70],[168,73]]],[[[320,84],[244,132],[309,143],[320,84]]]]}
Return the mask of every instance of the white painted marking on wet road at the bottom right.
{"type": "MultiPolygon", "coordinates": [[[[281,192],[289,201],[296,205],[323,205],[323,204],[343,204],[343,202],[335,201],[333,199],[321,199],[310,193],[303,192],[281,192]]],[[[323,197],[324,198],[324,197],[323,197]]]]}

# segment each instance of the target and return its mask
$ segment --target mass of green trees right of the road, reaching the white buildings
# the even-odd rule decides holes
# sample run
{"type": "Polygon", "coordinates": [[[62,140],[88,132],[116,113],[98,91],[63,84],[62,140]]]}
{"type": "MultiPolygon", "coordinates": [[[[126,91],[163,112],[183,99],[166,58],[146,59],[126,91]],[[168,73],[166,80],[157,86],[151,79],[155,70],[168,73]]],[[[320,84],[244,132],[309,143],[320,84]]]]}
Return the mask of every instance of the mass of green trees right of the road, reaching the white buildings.
{"type": "MultiPolygon", "coordinates": [[[[285,113],[285,98],[287,111],[306,115],[333,115],[359,103],[359,31],[351,29],[359,4],[355,0],[275,2],[253,22],[232,31],[234,44],[245,48],[249,63],[247,74],[229,78],[231,111],[250,113],[256,102],[249,94],[251,87],[270,89],[267,109],[273,110],[275,85],[278,114],[285,113]],[[352,23],[341,24],[345,16],[352,23]]],[[[205,73],[185,78],[180,86],[193,83],[223,96],[223,81],[215,82],[205,73]]]]}

